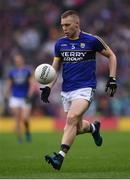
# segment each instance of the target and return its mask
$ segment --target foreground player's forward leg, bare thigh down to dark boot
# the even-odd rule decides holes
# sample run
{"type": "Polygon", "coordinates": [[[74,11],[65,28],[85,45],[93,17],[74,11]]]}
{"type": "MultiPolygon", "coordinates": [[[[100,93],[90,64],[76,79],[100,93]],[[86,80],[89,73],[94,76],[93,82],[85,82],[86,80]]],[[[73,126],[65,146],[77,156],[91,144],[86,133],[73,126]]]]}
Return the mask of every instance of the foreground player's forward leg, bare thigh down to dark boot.
{"type": "Polygon", "coordinates": [[[73,100],[67,113],[66,125],[61,142],[61,150],[54,157],[45,156],[46,161],[55,169],[60,169],[63,159],[73,144],[77,135],[77,125],[81,121],[84,112],[88,109],[88,101],[84,99],[73,100]]]}

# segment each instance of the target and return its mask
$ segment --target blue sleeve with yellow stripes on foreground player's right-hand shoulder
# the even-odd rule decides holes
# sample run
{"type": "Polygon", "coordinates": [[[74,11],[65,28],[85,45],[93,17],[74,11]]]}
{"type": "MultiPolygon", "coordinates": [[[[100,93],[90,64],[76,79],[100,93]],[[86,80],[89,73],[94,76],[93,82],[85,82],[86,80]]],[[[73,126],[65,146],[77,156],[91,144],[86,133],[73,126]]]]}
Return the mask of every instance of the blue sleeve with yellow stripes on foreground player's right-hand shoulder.
{"type": "Polygon", "coordinates": [[[101,52],[103,49],[107,49],[108,45],[99,37],[95,36],[94,48],[95,51],[101,52]]]}

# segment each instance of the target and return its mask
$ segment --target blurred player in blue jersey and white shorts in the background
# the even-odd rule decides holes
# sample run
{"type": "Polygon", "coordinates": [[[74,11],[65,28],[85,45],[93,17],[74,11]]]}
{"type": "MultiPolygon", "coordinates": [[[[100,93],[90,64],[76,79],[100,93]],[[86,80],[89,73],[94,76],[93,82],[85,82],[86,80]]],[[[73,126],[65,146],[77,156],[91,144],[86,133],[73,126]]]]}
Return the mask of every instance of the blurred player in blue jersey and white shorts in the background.
{"type": "Polygon", "coordinates": [[[25,127],[27,142],[31,141],[29,119],[31,113],[31,97],[33,94],[32,72],[25,66],[21,54],[14,56],[14,68],[9,72],[7,80],[7,98],[9,108],[16,121],[18,142],[23,142],[22,124],[25,127]]]}

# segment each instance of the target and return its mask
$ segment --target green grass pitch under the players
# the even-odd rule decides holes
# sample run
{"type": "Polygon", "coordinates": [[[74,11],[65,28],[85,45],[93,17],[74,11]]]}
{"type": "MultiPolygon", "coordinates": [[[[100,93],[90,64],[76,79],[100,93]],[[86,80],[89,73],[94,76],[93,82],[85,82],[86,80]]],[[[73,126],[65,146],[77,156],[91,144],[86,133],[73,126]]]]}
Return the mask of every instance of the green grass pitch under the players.
{"type": "Polygon", "coordinates": [[[0,178],[130,178],[130,134],[103,133],[96,147],[90,134],[78,136],[60,171],[43,156],[58,151],[60,133],[33,134],[33,141],[18,144],[15,135],[0,134],[0,178]]]}

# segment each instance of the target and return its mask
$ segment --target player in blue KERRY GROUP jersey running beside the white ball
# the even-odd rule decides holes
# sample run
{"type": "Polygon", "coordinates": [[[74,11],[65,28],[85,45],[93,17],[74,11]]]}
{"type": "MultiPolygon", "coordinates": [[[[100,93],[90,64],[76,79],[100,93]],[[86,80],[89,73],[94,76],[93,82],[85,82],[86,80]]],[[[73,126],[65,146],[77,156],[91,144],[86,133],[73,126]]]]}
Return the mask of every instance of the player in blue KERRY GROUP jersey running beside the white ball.
{"type": "MultiPolygon", "coordinates": [[[[97,146],[101,146],[103,142],[100,135],[100,122],[90,123],[83,119],[96,89],[96,52],[109,60],[106,92],[112,97],[117,88],[117,60],[106,43],[98,36],[81,31],[79,15],[73,10],[68,10],[61,15],[61,26],[65,36],[55,44],[55,57],[52,65],[57,76],[62,65],[61,96],[66,112],[66,124],[59,152],[54,153],[54,156],[45,156],[45,160],[57,170],[60,170],[76,135],[90,132],[97,146]]],[[[57,78],[48,86],[41,88],[43,102],[49,102],[48,97],[56,80],[57,78]]]]}

